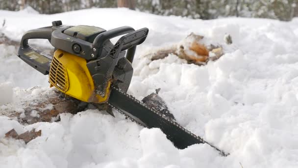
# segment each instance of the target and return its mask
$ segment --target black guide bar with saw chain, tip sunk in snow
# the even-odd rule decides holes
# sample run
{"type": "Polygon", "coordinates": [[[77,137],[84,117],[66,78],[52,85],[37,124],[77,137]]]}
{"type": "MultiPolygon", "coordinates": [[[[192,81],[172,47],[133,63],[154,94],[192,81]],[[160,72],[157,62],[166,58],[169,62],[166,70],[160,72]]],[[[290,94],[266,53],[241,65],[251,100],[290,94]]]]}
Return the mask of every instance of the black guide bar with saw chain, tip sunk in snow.
{"type": "Polygon", "coordinates": [[[155,108],[150,108],[145,103],[135,97],[123,92],[121,89],[111,86],[110,98],[107,102],[109,106],[122,113],[125,118],[147,128],[159,128],[179,149],[184,149],[192,144],[207,143],[220,152],[220,155],[227,156],[228,153],[218,147],[203,140],[180,126],[175,120],[170,119],[165,114],[158,112],[155,108]]]}

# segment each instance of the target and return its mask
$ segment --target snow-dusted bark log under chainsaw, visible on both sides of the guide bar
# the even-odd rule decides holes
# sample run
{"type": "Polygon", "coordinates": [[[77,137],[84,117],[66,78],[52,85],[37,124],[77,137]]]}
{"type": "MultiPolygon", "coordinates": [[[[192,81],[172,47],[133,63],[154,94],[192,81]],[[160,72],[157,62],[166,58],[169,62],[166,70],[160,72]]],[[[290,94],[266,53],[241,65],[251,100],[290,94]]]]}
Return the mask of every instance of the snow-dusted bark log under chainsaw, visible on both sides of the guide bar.
{"type": "MultiPolygon", "coordinates": [[[[159,89],[156,90],[156,93],[151,93],[146,96],[142,101],[149,107],[157,109],[162,114],[174,120],[173,114],[169,112],[166,103],[158,95],[158,91],[159,89]]],[[[15,109],[14,107],[16,105],[14,105],[14,103],[9,103],[4,106],[10,108],[6,110],[0,109],[0,115],[15,119],[24,125],[36,122],[59,121],[60,113],[69,112],[75,114],[86,109],[98,109],[99,111],[105,111],[114,116],[111,107],[107,104],[82,102],[55,88],[38,94],[34,99],[26,99],[25,97],[24,100],[21,101],[21,110],[19,105],[17,106],[18,108],[15,109]]]]}

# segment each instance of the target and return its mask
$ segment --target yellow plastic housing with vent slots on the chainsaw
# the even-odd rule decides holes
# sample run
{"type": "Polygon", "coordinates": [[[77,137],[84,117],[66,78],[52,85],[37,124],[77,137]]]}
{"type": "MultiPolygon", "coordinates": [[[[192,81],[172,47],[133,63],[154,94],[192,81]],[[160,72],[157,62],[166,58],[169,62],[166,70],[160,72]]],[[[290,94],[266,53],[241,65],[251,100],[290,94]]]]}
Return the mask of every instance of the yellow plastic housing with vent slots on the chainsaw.
{"type": "Polygon", "coordinates": [[[86,63],[82,57],[56,50],[50,66],[50,84],[78,100],[104,103],[108,99],[111,83],[108,82],[104,97],[95,94],[94,81],[86,63]]]}

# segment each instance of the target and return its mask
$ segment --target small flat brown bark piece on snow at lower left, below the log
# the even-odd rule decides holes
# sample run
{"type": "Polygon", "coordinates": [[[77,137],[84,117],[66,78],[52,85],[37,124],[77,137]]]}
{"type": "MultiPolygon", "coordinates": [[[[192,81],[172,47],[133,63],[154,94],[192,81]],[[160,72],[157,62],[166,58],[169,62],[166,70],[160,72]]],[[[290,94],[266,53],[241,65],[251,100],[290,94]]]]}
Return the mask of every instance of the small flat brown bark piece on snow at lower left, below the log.
{"type": "Polygon", "coordinates": [[[33,128],[31,131],[26,131],[25,133],[20,134],[20,135],[18,135],[18,133],[15,131],[15,129],[12,129],[5,134],[6,138],[13,138],[16,140],[24,140],[25,143],[28,143],[29,141],[31,141],[37,137],[40,137],[40,136],[41,136],[41,130],[35,131],[35,128],[33,128]]]}

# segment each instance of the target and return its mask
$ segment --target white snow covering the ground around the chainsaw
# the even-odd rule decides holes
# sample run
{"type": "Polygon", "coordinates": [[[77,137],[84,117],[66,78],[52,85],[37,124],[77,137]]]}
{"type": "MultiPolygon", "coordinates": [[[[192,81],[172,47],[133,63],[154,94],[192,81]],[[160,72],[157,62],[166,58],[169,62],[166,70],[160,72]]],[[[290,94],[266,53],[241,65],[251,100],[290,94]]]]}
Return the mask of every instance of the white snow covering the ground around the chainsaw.
{"type": "MultiPolygon", "coordinates": [[[[298,167],[298,19],[203,21],[96,8],[55,15],[0,11],[0,23],[3,19],[1,31],[16,40],[54,20],[105,29],[149,28],[146,42],[137,48],[128,93],[142,99],[161,88],[160,96],[182,126],[230,155],[221,157],[206,144],[178,150],[159,129],[87,110],[27,126],[0,116],[0,168],[298,167]],[[176,56],[152,62],[142,57],[190,32],[223,45],[224,56],[206,66],[185,64],[176,56]],[[232,45],[224,44],[225,34],[232,36],[232,45]],[[42,135],[27,144],[3,138],[12,128],[18,133],[36,128],[42,135]]],[[[1,111],[22,111],[20,101],[50,89],[48,77],[16,52],[0,44],[1,111]]]]}

